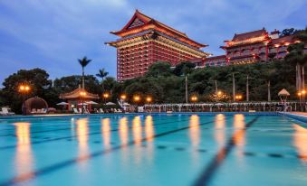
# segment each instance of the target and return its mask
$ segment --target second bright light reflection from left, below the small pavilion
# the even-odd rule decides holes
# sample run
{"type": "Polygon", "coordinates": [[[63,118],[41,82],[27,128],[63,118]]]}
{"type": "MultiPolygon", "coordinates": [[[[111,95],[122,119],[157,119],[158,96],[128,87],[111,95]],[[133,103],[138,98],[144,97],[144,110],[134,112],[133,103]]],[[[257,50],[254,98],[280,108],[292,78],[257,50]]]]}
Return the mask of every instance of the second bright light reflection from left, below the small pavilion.
{"type": "Polygon", "coordinates": [[[89,153],[88,140],[89,140],[89,120],[88,118],[81,118],[76,121],[77,138],[79,143],[79,162],[87,158],[89,153]]]}

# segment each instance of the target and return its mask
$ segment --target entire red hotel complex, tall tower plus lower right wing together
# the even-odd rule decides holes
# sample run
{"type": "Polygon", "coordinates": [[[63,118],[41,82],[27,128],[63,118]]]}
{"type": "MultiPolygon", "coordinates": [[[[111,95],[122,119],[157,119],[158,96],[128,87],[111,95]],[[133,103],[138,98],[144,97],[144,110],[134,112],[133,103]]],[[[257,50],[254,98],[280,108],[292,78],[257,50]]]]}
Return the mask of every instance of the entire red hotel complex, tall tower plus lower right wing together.
{"type": "Polygon", "coordinates": [[[110,33],[120,37],[115,42],[106,42],[117,49],[117,79],[120,81],[143,76],[157,61],[168,61],[172,66],[191,61],[197,68],[205,68],[281,59],[287,54],[289,44],[300,42],[293,35],[281,36],[277,30],[269,33],[263,28],[235,33],[221,46],[225,54],[210,56],[201,50],[206,44],[138,10],[120,31],[110,33]]]}

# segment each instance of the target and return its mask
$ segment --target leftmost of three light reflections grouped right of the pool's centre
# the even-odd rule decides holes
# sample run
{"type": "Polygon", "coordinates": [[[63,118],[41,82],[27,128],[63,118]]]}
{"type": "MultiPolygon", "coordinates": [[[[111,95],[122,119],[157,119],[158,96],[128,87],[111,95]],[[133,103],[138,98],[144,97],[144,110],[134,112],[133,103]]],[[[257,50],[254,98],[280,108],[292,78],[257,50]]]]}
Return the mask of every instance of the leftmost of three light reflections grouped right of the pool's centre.
{"type": "Polygon", "coordinates": [[[197,146],[200,142],[199,116],[192,115],[189,119],[189,135],[193,146],[197,146]]]}

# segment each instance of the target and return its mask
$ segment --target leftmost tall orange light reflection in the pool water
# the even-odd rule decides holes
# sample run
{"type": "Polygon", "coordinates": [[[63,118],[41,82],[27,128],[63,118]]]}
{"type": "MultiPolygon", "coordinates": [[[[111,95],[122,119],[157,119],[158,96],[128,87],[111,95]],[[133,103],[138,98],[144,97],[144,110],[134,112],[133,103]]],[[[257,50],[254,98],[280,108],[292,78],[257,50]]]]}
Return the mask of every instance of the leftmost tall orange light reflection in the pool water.
{"type": "MultiPolygon", "coordinates": [[[[34,159],[31,148],[30,123],[14,123],[17,148],[15,155],[15,168],[18,174],[32,172],[34,168],[34,159]]],[[[28,175],[32,177],[33,175],[28,175]]]]}

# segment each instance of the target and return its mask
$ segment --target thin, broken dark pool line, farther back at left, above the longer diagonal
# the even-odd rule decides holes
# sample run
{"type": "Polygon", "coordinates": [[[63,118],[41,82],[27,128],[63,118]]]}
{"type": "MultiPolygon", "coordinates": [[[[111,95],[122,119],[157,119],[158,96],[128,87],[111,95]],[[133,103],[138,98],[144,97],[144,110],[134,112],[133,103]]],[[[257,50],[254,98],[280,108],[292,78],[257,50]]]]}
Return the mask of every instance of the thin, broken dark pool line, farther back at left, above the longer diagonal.
{"type": "MultiPolygon", "coordinates": [[[[163,119],[163,120],[168,120],[168,119],[163,119]]],[[[154,124],[153,126],[159,126],[159,125],[162,125],[162,124],[172,124],[172,123],[177,123],[177,122],[185,122],[185,121],[189,121],[189,118],[182,119],[182,120],[179,120],[179,121],[173,121],[173,122],[158,123],[158,124],[154,124]]],[[[143,127],[143,126],[138,126],[138,127],[143,127]]],[[[135,128],[138,128],[138,127],[130,126],[129,129],[135,129],[135,128]]],[[[103,131],[103,132],[101,132],[101,131],[99,131],[99,132],[92,132],[92,133],[88,133],[86,135],[101,135],[101,133],[104,134],[104,133],[110,133],[110,132],[116,132],[116,131],[120,131],[120,128],[111,129],[109,131],[103,131]]],[[[45,140],[41,140],[41,141],[34,141],[34,142],[31,143],[31,145],[34,145],[34,144],[44,144],[44,143],[49,143],[49,142],[54,142],[54,141],[65,140],[65,139],[66,140],[67,139],[73,139],[73,138],[76,138],[78,136],[80,136],[80,135],[69,135],[69,136],[57,137],[57,138],[52,138],[52,139],[49,138],[49,139],[45,139],[45,140]]],[[[16,148],[16,147],[17,147],[17,144],[0,146],[0,151],[6,150],[6,149],[12,149],[12,148],[16,148]]]]}

